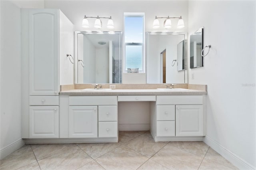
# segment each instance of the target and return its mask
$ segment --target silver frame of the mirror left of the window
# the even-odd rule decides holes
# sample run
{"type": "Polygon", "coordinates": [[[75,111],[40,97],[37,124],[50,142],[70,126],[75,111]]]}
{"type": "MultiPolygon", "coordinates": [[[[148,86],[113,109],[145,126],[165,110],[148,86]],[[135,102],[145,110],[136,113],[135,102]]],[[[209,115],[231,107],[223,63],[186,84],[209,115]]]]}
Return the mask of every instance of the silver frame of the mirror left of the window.
{"type": "MultiPolygon", "coordinates": [[[[114,31],[115,33],[119,34],[119,39],[120,39],[120,59],[122,60],[123,57],[123,49],[122,49],[122,39],[123,39],[123,32],[121,31],[114,31]]],[[[103,34],[110,34],[109,31],[103,31],[103,34]]],[[[92,32],[86,32],[86,31],[75,31],[74,32],[74,84],[81,84],[78,83],[78,34],[99,34],[97,31],[92,31],[92,32]]],[[[122,76],[122,68],[120,69],[120,76],[122,76]]],[[[122,78],[121,78],[122,82],[122,78]]],[[[82,83],[82,84],[93,84],[93,83],[82,83]]],[[[113,84],[113,83],[104,83],[104,84],[113,84]]],[[[114,84],[122,84],[122,83],[114,83],[114,84]]]]}

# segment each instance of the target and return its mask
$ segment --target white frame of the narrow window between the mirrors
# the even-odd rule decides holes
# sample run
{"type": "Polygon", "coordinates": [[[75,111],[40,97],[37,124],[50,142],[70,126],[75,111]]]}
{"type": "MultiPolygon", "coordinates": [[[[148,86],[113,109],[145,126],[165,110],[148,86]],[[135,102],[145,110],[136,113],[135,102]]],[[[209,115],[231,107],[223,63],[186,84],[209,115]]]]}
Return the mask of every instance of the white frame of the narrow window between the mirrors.
{"type": "Polygon", "coordinates": [[[139,70],[139,73],[146,73],[145,65],[145,13],[144,12],[124,12],[124,34],[123,34],[123,71],[127,73],[126,69],[126,45],[142,45],[142,69],[139,70]],[[126,17],[142,17],[143,18],[143,32],[142,32],[142,43],[125,43],[125,18],[126,17]]]}

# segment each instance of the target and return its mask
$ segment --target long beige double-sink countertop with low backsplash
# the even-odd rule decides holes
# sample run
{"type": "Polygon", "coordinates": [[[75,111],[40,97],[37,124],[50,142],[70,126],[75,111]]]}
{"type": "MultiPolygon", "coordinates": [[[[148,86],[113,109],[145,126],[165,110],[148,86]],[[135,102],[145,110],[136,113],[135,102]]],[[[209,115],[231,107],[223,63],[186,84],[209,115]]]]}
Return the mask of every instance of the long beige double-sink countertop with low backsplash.
{"type": "MultiPolygon", "coordinates": [[[[206,91],[206,85],[188,85],[188,84],[182,84],[182,85],[175,85],[175,90],[169,91],[168,89],[165,90],[163,85],[158,85],[157,88],[150,89],[150,85],[147,85],[146,87],[143,87],[143,85],[139,85],[142,88],[138,89],[140,87],[133,88],[132,85],[126,85],[127,89],[110,89],[108,90],[108,86],[106,86],[103,89],[93,89],[92,86],[82,86],[79,85],[77,89],[76,85],[70,85],[68,86],[62,86],[60,91],[60,95],[80,95],[80,96],[99,96],[99,95],[204,95],[207,94],[206,91]],[[187,87],[186,87],[187,85],[187,87]],[[84,88],[83,88],[84,87],[84,88]],[[189,88],[190,87],[190,88],[189,88]],[[160,90],[158,89],[160,88],[160,90]],[[180,90],[177,90],[177,88],[182,88],[180,90]],[[193,89],[192,89],[193,88],[193,89]],[[83,89],[86,89],[85,91],[83,89]],[[87,90],[88,89],[88,90],[87,90]],[[105,89],[105,90],[104,90],[105,89]],[[183,90],[186,89],[186,90],[183,90]]],[[[122,87],[122,86],[120,86],[122,87]]],[[[118,87],[118,88],[120,88],[118,87]]]]}

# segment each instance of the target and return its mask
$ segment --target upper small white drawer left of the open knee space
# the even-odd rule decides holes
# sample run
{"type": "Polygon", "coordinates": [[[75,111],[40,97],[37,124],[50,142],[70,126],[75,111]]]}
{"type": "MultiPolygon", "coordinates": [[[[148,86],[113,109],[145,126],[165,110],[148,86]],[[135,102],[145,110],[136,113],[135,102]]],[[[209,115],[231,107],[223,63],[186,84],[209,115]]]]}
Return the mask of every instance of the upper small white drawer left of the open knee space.
{"type": "Polygon", "coordinates": [[[117,106],[98,106],[99,121],[117,121],[117,106]]]}

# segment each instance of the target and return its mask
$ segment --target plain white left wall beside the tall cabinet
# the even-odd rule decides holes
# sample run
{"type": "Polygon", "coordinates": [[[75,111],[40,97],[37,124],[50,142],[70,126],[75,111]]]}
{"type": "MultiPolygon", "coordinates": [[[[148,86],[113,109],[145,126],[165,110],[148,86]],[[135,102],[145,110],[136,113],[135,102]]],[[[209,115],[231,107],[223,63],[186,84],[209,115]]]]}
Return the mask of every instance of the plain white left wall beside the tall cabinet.
{"type": "Polygon", "coordinates": [[[21,140],[20,8],[1,1],[1,157],[21,140]]]}

